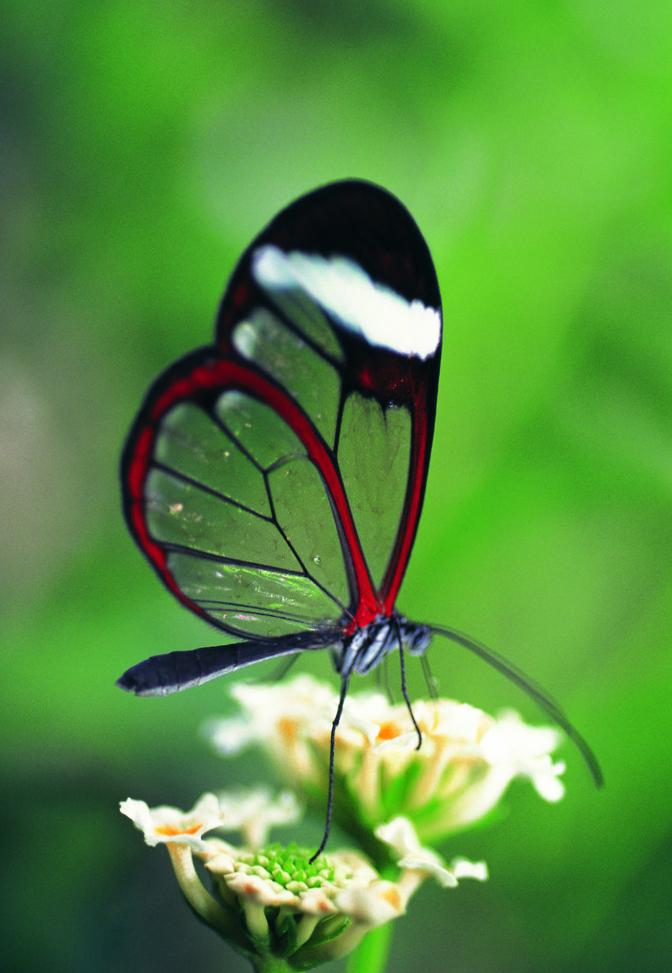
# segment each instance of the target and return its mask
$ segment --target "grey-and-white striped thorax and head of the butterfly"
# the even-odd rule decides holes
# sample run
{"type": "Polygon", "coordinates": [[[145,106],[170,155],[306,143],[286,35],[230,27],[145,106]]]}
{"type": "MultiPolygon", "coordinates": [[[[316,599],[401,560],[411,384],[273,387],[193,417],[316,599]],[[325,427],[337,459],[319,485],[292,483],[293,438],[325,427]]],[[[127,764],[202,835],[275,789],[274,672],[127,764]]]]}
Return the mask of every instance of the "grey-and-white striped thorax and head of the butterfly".
{"type": "Polygon", "coordinates": [[[422,655],[430,642],[427,625],[409,622],[401,615],[378,616],[364,628],[348,636],[334,653],[336,671],[341,675],[374,669],[393,649],[422,655]]]}

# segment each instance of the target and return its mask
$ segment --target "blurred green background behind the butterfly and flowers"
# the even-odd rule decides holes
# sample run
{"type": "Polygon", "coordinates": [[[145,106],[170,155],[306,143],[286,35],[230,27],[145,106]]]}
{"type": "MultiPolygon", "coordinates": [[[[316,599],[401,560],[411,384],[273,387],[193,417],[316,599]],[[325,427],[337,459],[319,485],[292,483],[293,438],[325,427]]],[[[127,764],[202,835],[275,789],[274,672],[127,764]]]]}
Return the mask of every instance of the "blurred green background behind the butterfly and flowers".
{"type": "MultiPolygon", "coordinates": [[[[563,803],[514,788],[508,817],[456,838],[492,879],[424,889],[391,969],[668,969],[670,4],[10,0],[3,21],[5,968],[244,968],[116,807],[269,774],[199,740],[222,683],[114,687],[218,641],[126,535],[118,458],[251,237],[362,176],[415,215],[445,305],[401,607],[533,673],[607,778],[597,793],[566,748],[563,803]]],[[[431,657],[445,694],[539,719],[458,648],[431,657]]]]}

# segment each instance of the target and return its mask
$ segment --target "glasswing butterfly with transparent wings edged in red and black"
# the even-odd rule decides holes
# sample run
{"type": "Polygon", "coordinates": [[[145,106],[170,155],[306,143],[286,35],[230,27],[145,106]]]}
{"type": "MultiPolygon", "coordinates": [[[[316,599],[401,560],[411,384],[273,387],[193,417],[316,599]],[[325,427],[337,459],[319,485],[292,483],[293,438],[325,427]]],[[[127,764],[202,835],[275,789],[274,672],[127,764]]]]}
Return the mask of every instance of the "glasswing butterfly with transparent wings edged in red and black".
{"type": "Polygon", "coordinates": [[[121,467],[128,527],[161,581],[239,641],[153,656],[118,684],[164,695],[329,649],[341,680],[333,770],[351,677],[398,652],[413,718],[405,653],[424,659],[443,635],[532,695],[600,783],[590,747],[540,687],[482,643],[397,610],[429,469],[441,329],[427,244],[381,187],[331,183],[262,230],[233,272],[213,344],[151,386],[121,467]]]}

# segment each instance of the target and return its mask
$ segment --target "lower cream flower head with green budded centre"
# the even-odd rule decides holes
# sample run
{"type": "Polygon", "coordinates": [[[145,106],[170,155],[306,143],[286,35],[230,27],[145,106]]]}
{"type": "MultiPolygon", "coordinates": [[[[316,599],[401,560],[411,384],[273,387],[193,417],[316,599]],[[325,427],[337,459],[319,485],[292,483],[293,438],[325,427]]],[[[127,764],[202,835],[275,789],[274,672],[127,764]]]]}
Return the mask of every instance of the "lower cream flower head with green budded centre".
{"type": "Polygon", "coordinates": [[[194,911],[234,948],[254,958],[281,959],[306,969],[349,953],[373,928],[402,915],[420,883],[434,877],[444,888],[463,878],[485,880],[484,863],[464,859],[446,866],[422,848],[408,820],[379,829],[378,838],[397,860],[392,881],[360,853],[337,851],[312,860],[296,844],[266,843],[271,824],[295,820],[298,806],[260,789],[245,795],[204,794],[194,808],[149,808],[128,798],[120,805],[150,846],[165,845],[176,878],[194,911]],[[213,830],[255,835],[259,845],[234,846],[213,830]],[[212,881],[208,891],[195,867],[200,860],[212,881]]]}

